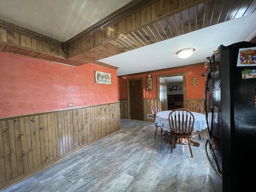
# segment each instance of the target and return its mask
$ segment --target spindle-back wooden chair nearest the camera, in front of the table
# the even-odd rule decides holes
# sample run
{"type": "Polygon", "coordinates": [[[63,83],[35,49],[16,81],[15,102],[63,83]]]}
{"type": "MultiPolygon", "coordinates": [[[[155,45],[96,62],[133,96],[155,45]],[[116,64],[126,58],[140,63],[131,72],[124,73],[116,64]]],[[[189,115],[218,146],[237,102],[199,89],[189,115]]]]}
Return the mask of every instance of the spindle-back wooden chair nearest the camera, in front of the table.
{"type": "Polygon", "coordinates": [[[193,152],[191,148],[190,139],[193,137],[194,128],[194,115],[186,109],[172,110],[169,114],[170,134],[171,138],[171,153],[176,144],[188,145],[191,157],[193,152]],[[184,139],[188,140],[188,143],[184,142],[184,139]]]}

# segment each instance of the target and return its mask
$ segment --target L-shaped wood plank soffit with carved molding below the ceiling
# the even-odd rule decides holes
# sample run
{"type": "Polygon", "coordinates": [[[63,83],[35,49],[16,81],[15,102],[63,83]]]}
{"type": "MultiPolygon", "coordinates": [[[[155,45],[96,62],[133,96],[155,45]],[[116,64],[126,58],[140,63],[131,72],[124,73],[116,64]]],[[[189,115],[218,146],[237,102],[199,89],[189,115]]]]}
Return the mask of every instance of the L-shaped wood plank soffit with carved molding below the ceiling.
{"type": "Polygon", "coordinates": [[[134,0],[66,42],[0,20],[0,51],[108,66],[97,61],[254,12],[256,0],[134,0]]]}

